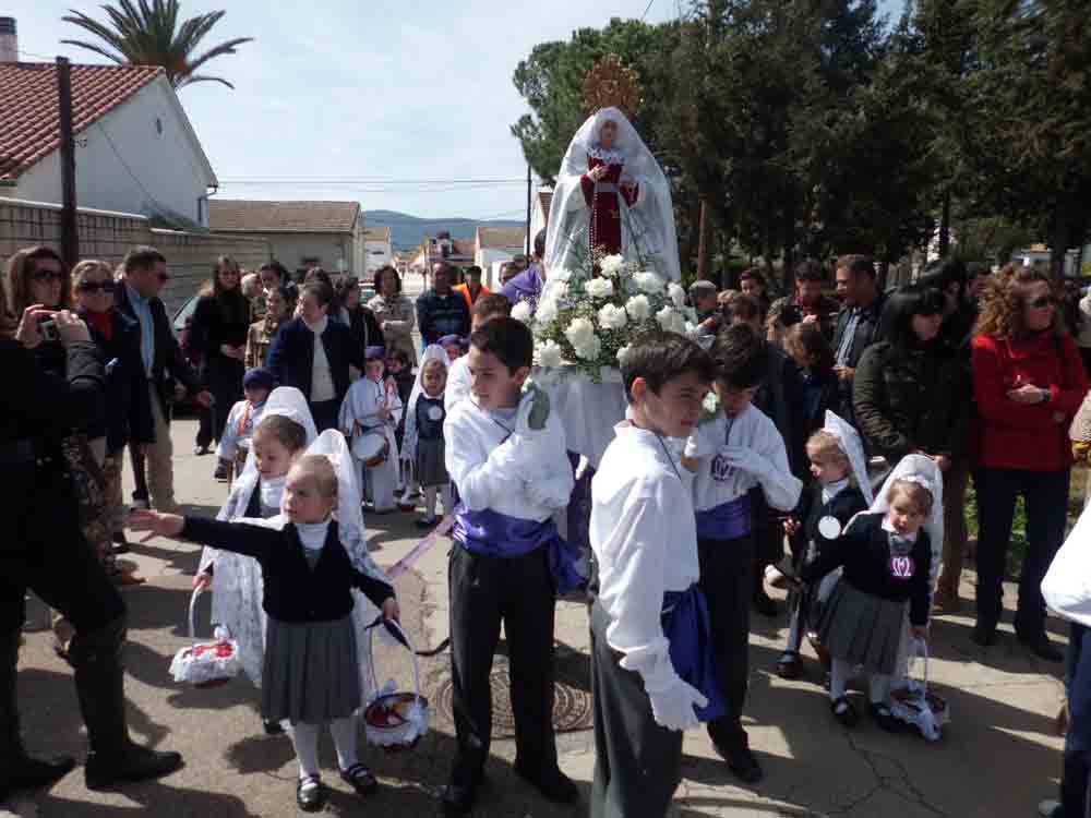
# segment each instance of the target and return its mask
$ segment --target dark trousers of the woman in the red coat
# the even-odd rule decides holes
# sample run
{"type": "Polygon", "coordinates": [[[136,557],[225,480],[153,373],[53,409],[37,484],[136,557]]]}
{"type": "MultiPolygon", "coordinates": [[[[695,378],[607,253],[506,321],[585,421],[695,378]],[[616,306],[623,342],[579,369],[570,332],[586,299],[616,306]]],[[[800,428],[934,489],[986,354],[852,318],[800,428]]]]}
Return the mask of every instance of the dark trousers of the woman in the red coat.
{"type": "Polygon", "coordinates": [[[1065,539],[1070,472],[1026,469],[979,469],[978,623],[996,627],[1004,612],[1004,576],[1016,498],[1027,504],[1027,557],[1019,576],[1016,630],[1028,637],[1045,629],[1042,579],[1065,539]]]}

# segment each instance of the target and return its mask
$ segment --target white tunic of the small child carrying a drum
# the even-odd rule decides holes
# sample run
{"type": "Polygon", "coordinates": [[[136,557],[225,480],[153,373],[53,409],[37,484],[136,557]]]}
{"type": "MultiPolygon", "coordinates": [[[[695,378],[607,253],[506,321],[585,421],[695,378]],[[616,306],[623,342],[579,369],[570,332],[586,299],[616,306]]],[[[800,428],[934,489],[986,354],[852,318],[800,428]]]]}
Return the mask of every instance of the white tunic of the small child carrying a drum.
{"type": "Polygon", "coordinates": [[[370,377],[361,377],[352,384],[341,402],[339,425],[347,438],[352,440],[363,434],[377,434],[386,438],[387,456],[382,464],[367,467],[362,461],[357,461],[362,474],[360,485],[371,496],[376,510],[394,508],[394,490],[398,482],[398,444],[394,430],[400,410],[397,388],[392,394],[385,382],[376,383],[370,377]],[[377,414],[383,407],[392,412],[386,420],[380,420],[377,414]]]}

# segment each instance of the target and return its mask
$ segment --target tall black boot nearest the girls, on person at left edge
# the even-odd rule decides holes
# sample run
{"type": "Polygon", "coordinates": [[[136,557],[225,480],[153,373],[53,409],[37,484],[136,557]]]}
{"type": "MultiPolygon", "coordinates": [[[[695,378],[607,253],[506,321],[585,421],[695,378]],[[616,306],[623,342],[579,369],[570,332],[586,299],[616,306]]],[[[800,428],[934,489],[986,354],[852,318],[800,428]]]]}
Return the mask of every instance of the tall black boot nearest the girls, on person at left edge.
{"type": "Polygon", "coordinates": [[[121,664],[124,637],[125,619],[120,616],[93,634],[76,634],[69,648],[80,710],[91,739],[84,770],[88,790],[157,779],[182,766],[179,754],[147,749],[129,738],[121,664]]]}

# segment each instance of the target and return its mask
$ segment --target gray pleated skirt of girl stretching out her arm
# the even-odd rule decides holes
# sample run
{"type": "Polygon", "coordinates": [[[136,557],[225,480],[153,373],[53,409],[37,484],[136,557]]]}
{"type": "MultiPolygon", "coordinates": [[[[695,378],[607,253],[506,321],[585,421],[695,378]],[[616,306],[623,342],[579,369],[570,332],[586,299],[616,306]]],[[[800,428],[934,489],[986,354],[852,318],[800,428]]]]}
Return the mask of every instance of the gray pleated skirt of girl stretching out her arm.
{"type": "Polygon", "coordinates": [[[360,708],[360,669],[351,615],[287,623],[272,616],[265,636],[262,717],[322,724],[360,708]]]}

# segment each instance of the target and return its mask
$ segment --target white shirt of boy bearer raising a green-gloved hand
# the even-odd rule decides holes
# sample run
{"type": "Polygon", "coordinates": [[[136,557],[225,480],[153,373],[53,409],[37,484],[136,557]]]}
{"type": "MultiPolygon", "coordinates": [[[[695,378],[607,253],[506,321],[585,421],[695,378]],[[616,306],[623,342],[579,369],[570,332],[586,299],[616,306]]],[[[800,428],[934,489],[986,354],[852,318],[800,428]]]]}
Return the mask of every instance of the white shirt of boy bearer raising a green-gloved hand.
{"type": "Polygon", "coordinates": [[[544,429],[529,429],[532,401],[532,394],[524,395],[509,418],[472,399],[447,416],[447,472],[469,510],[541,522],[568,504],[574,480],[564,428],[551,411],[544,429]]]}

